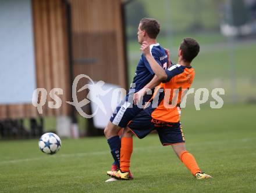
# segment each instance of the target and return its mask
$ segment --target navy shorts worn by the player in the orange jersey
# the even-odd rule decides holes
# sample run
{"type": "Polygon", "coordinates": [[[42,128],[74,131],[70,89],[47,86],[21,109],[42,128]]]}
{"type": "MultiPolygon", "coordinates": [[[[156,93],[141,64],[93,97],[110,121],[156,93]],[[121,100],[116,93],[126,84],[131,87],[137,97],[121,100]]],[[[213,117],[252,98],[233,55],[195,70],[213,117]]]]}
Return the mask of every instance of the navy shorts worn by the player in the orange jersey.
{"type": "Polygon", "coordinates": [[[184,143],[184,135],[180,122],[169,123],[151,118],[145,111],[141,111],[128,125],[139,139],[143,139],[152,130],[157,130],[162,145],[184,143]]]}

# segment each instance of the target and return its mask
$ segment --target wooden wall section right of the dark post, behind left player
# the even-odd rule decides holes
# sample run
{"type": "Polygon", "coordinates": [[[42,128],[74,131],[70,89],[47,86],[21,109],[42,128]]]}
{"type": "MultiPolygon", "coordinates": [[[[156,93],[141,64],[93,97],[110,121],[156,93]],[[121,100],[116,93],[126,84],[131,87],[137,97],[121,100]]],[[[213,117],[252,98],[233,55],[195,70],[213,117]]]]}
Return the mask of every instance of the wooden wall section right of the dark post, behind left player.
{"type": "MultiPolygon", "coordinates": [[[[126,88],[121,1],[69,2],[72,6],[74,75],[86,74],[94,81],[126,88]]],[[[84,81],[80,84],[86,83],[84,81]]]]}

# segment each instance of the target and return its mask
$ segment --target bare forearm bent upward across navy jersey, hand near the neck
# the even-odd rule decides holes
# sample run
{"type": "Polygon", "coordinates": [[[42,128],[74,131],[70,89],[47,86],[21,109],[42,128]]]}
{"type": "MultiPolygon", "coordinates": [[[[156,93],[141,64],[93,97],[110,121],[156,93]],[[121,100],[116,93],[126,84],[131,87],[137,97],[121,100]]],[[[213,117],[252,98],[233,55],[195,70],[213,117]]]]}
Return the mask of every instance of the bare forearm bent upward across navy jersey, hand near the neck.
{"type": "Polygon", "coordinates": [[[143,42],[141,45],[140,50],[143,52],[145,58],[147,59],[148,63],[150,64],[150,67],[152,71],[157,75],[158,79],[160,81],[164,81],[167,79],[167,74],[165,73],[165,70],[155,61],[154,57],[150,53],[150,46],[147,42],[143,42]]]}

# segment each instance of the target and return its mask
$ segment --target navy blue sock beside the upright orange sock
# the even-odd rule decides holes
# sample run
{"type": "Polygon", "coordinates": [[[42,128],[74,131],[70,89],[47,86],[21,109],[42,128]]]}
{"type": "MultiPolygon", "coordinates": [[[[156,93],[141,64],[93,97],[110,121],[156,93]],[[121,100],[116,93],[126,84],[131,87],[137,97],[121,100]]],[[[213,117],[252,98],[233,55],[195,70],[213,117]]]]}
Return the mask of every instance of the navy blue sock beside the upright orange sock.
{"type": "Polygon", "coordinates": [[[115,164],[120,167],[120,148],[121,148],[121,140],[119,136],[114,136],[108,139],[108,144],[111,150],[111,154],[115,160],[115,164]]]}

